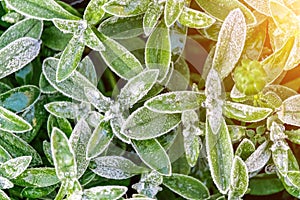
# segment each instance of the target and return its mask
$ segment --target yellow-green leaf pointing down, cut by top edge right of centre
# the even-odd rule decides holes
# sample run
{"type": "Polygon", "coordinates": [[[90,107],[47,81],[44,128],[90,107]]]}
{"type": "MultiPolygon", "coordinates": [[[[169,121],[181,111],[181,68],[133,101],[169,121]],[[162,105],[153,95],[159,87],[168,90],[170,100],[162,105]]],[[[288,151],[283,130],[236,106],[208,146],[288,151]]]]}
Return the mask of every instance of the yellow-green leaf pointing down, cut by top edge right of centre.
{"type": "Polygon", "coordinates": [[[181,15],[185,1],[167,0],[165,4],[164,18],[167,27],[172,26],[181,15]]]}

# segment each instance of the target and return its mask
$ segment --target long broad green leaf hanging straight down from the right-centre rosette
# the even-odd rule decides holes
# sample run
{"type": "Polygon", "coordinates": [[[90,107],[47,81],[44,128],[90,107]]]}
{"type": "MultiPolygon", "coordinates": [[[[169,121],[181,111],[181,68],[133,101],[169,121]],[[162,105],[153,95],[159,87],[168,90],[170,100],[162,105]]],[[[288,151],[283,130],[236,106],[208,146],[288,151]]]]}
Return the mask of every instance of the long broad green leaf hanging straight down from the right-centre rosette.
{"type": "Polygon", "coordinates": [[[226,194],[230,186],[230,174],[233,165],[233,147],[225,120],[215,134],[206,120],[206,151],[212,179],[219,192],[226,194]]]}

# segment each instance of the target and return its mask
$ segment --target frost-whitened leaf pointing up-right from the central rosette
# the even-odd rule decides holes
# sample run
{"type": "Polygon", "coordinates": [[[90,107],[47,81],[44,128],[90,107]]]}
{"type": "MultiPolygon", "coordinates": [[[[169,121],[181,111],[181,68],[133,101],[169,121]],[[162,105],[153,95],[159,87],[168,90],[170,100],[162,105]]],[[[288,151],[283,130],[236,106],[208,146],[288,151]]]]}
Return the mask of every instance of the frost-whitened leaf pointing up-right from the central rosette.
{"type": "Polygon", "coordinates": [[[118,96],[121,106],[132,107],[150,91],[157,78],[158,70],[146,70],[131,78],[118,96]]]}

